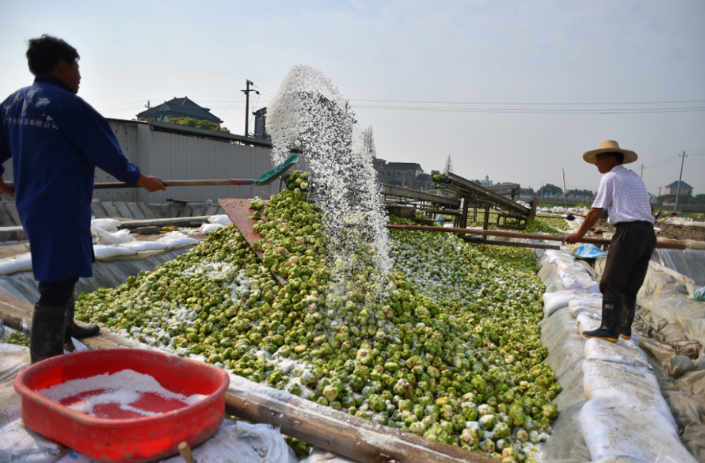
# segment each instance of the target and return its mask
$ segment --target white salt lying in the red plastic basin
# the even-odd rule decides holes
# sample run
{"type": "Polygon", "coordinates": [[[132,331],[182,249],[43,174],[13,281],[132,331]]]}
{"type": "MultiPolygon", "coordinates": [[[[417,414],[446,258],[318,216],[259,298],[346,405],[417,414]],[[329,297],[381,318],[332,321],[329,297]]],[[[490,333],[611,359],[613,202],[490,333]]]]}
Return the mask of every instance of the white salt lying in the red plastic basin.
{"type": "Polygon", "coordinates": [[[37,391],[39,395],[47,397],[47,399],[61,402],[61,400],[70,397],[77,397],[83,393],[90,391],[102,390],[104,392],[97,395],[89,395],[82,397],[78,402],[68,405],[68,408],[74,409],[77,412],[82,412],[90,416],[98,417],[93,412],[93,407],[96,405],[118,404],[120,408],[126,412],[135,412],[143,416],[152,416],[159,413],[148,412],[139,408],[131,407],[140,400],[142,395],[152,393],[158,395],[165,400],[176,400],[185,405],[192,405],[200,400],[203,400],[207,395],[194,394],[183,395],[173,393],[159,384],[159,381],[147,374],[137,373],[133,370],[118,371],[114,374],[102,374],[91,376],[90,378],[73,379],[52,386],[48,389],[37,391]]]}

